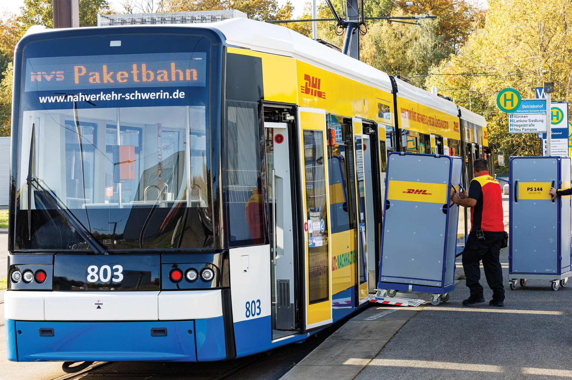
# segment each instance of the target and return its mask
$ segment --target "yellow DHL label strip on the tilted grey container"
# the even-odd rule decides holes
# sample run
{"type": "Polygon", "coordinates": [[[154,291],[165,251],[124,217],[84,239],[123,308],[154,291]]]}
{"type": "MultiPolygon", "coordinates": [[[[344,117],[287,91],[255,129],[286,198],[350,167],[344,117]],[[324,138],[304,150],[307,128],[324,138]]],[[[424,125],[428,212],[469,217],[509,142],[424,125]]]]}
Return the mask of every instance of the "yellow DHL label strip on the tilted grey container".
{"type": "Polygon", "coordinates": [[[390,180],[387,199],[444,204],[447,203],[447,184],[390,180]]]}

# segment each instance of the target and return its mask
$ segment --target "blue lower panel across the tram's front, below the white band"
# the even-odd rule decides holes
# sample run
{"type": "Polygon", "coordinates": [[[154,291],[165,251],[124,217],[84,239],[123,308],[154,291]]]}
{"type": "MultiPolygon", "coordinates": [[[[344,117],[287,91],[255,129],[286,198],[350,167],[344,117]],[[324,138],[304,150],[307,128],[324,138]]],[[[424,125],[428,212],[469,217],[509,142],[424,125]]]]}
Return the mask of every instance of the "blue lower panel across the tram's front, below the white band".
{"type": "Polygon", "coordinates": [[[223,317],[153,322],[6,320],[6,354],[19,362],[222,360],[226,358],[223,317]],[[40,336],[40,329],[46,328],[53,329],[53,336],[40,336]],[[157,328],[166,329],[166,336],[152,336],[151,329],[157,328]]]}

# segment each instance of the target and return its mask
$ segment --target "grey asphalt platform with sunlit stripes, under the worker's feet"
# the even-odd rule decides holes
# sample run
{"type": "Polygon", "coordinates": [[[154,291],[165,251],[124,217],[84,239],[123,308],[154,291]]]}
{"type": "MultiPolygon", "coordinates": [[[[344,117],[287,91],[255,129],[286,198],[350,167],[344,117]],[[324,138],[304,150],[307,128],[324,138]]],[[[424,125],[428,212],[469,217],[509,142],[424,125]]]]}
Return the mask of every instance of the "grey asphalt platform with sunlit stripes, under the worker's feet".
{"type": "MultiPolygon", "coordinates": [[[[502,250],[501,263],[508,254],[502,250]]],[[[505,307],[496,308],[484,273],[480,281],[485,303],[462,306],[469,292],[460,281],[450,301],[424,304],[355,379],[572,378],[572,286],[554,292],[547,280],[528,280],[510,290],[506,280],[505,307]]]]}

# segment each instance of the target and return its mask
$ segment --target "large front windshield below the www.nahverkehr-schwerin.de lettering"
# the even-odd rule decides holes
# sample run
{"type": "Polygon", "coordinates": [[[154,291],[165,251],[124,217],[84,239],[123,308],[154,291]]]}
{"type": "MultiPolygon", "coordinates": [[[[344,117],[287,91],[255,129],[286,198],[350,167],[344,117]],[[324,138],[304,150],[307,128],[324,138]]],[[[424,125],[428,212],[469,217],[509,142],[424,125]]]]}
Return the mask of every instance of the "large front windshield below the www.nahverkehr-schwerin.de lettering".
{"type": "MultiPolygon", "coordinates": [[[[164,106],[79,108],[77,114],[73,109],[25,111],[23,117],[35,126],[32,175],[108,249],[213,246],[205,110],[164,106]],[[125,167],[128,176],[116,175],[125,167]]],[[[31,123],[23,134],[28,137],[19,148],[18,181],[25,186],[27,159],[22,159],[29,156],[31,123]]],[[[17,224],[27,225],[27,204],[22,199],[17,224]]],[[[52,208],[45,195],[33,192],[33,237],[19,229],[19,247],[88,249],[52,208]]]]}

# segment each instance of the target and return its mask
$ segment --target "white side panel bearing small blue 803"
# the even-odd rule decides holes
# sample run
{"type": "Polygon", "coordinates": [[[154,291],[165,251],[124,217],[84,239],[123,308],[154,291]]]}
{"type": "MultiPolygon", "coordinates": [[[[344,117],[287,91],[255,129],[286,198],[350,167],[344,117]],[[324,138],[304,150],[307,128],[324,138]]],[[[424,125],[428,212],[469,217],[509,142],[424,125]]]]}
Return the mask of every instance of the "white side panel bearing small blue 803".
{"type": "MultiPolygon", "coordinates": [[[[270,246],[256,245],[229,250],[232,284],[232,319],[233,322],[247,321],[271,314],[270,296],[270,246]],[[248,255],[248,271],[242,268],[248,255]],[[260,310],[258,309],[260,300],[260,310]],[[247,302],[255,302],[253,316],[247,311],[247,302]],[[256,315],[258,314],[258,315],[256,315]]],[[[280,259],[279,259],[280,260],[280,259]]]]}

